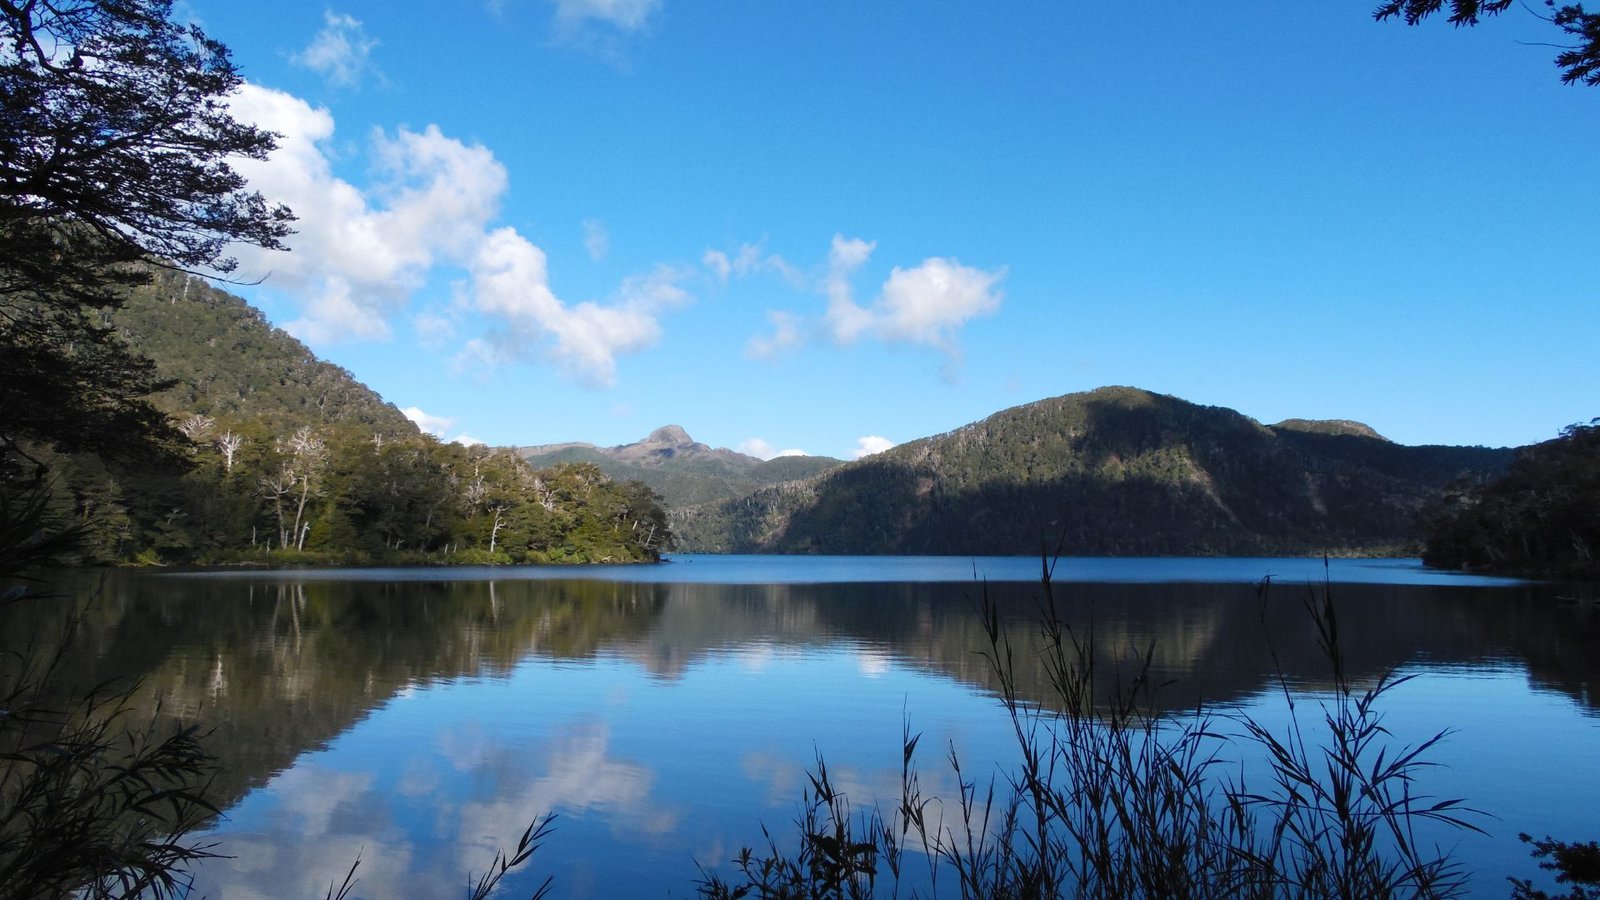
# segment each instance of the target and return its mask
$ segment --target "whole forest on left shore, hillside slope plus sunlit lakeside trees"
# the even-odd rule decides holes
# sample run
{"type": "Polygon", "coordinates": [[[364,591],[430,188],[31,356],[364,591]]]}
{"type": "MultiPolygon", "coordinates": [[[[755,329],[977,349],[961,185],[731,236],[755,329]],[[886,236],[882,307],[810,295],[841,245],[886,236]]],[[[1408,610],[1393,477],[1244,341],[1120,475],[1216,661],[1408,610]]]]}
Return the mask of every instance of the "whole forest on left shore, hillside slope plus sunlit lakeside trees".
{"type": "Polygon", "coordinates": [[[634,562],[669,541],[648,487],[440,444],[200,279],[157,274],[109,323],[155,362],[181,440],[138,461],[21,447],[91,562],[634,562]]]}

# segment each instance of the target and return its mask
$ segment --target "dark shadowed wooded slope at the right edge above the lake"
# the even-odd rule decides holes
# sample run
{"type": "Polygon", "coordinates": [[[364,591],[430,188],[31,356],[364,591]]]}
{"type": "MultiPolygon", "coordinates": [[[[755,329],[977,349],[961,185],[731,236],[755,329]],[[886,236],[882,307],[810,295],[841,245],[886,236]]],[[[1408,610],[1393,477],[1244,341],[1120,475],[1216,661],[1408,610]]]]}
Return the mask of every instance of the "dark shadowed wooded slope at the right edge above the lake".
{"type": "Polygon", "coordinates": [[[1600,577],[1600,420],[1525,447],[1499,479],[1453,485],[1427,532],[1429,565],[1600,577]]]}

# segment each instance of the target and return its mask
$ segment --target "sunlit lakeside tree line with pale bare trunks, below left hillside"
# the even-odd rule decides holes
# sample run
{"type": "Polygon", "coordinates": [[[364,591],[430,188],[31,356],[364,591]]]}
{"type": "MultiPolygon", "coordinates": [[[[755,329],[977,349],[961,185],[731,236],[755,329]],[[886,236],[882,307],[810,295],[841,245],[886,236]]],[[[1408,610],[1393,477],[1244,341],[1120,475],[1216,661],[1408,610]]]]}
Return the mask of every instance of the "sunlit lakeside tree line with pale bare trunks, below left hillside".
{"type": "Polygon", "coordinates": [[[37,450],[50,509],[86,532],[88,562],[645,562],[670,540],[648,487],[594,464],[536,469],[360,424],[190,415],[178,429],[187,460],[165,469],[37,450]]]}

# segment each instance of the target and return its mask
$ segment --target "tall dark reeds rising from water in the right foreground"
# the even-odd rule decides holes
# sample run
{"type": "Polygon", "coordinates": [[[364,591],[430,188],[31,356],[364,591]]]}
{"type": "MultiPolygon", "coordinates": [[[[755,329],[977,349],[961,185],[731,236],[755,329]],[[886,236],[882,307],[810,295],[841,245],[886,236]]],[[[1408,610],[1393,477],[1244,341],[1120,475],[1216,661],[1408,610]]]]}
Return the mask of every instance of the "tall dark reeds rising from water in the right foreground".
{"type": "MultiPolygon", "coordinates": [[[[702,871],[714,900],[846,897],[1451,897],[1464,871],[1418,838],[1419,825],[1477,830],[1419,777],[1446,735],[1395,746],[1381,700],[1405,677],[1357,685],[1342,663],[1331,588],[1307,589],[1331,689],[1299,700],[1288,724],[1157,705],[1154,647],[1109,658],[1074,629],[1042,577],[1042,663],[1051,703],[1018,690],[1018,658],[984,596],[982,653],[1010,716],[1018,762],[973,778],[954,749],[958,794],[923,794],[918,735],[902,740],[896,809],[853,810],[818,759],[792,847],[766,833],[731,874],[702,871]],[[1131,658],[1130,658],[1131,657],[1131,658]],[[1133,673],[1123,676],[1120,673],[1133,673]],[[1309,708],[1309,706],[1314,706],[1309,708]],[[1253,753],[1264,765],[1245,765],[1253,753]]],[[[1270,583],[1259,586],[1262,609],[1270,583]]]]}

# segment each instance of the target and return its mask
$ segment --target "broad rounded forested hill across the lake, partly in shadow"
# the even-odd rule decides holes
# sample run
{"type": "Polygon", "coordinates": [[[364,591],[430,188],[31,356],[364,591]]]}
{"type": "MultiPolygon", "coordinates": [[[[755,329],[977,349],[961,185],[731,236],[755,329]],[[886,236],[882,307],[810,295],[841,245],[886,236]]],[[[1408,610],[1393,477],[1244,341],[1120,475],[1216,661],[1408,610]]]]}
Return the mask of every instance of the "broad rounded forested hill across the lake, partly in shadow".
{"type": "Polygon", "coordinates": [[[1395,552],[1414,551],[1418,512],[1448,484],[1510,458],[1102,388],[677,509],[672,524],[680,548],[722,552],[1395,552]]]}

